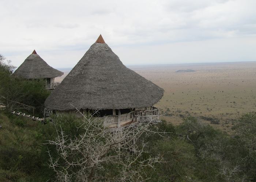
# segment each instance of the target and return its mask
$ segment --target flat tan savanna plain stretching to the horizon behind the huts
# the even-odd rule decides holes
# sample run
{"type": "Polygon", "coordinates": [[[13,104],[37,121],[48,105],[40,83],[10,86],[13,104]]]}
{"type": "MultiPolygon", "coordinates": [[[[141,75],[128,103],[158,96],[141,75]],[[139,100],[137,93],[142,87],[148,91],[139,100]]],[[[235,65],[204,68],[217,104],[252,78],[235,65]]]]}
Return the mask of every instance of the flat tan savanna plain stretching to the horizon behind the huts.
{"type": "MultiPolygon", "coordinates": [[[[256,111],[256,62],[128,67],[165,90],[155,106],[167,122],[180,124],[183,118],[194,116],[230,133],[235,119],[256,111]]],[[[62,71],[64,75],[56,82],[61,82],[70,70],[62,71]]]]}

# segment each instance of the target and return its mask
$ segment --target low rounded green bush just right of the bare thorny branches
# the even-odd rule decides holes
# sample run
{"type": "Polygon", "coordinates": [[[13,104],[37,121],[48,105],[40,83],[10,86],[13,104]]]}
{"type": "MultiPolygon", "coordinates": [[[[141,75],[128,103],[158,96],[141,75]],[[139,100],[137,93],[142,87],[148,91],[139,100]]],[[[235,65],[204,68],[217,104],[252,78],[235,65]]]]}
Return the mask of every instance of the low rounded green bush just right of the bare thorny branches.
{"type": "Polygon", "coordinates": [[[160,154],[164,161],[150,170],[150,181],[192,181],[196,179],[196,155],[193,145],[182,139],[163,139],[154,142],[151,155],[160,154]]]}

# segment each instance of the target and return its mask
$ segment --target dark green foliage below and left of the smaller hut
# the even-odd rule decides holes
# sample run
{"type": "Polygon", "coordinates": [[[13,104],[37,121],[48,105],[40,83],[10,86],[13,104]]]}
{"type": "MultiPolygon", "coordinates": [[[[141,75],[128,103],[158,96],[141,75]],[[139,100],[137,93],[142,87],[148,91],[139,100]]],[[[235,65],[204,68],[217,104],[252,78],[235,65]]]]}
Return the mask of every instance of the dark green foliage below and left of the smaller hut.
{"type": "Polygon", "coordinates": [[[5,104],[8,111],[19,110],[42,116],[44,101],[49,96],[43,80],[26,80],[12,76],[14,66],[4,62],[0,55],[0,101],[5,104]],[[25,106],[22,104],[29,106],[25,106]]]}

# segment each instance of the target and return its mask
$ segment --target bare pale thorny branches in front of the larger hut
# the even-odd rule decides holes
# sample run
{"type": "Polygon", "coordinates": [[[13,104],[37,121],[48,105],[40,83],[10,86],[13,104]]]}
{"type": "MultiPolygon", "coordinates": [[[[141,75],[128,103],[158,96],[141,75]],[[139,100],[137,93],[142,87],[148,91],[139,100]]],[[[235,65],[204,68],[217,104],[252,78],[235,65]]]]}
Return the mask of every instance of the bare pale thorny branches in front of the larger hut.
{"type": "MultiPolygon", "coordinates": [[[[77,110],[77,112],[80,112],[77,110]]],[[[102,120],[92,115],[83,115],[77,127],[83,133],[71,139],[65,131],[56,128],[57,137],[48,141],[54,145],[58,157],[49,154],[49,167],[59,181],[143,181],[149,179],[145,167],[154,169],[155,163],[163,162],[160,156],[143,158],[147,143],[136,143],[144,133],[162,135],[165,132],[151,130],[154,122],[133,122],[121,128],[106,128],[102,120]],[[118,166],[116,175],[106,172],[108,165],[118,166]]]]}

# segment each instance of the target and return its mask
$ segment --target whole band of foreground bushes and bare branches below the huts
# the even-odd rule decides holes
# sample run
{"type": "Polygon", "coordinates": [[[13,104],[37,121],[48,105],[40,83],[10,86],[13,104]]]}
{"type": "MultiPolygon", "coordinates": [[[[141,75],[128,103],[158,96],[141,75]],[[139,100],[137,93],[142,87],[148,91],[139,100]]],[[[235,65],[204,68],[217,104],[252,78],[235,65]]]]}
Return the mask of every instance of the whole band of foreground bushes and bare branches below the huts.
{"type": "Polygon", "coordinates": [[[232,136],[190,117],[176,127],[136,127],[146,132],[134,146],[130,128],[121,133],[132,132],[131,145],[120,150],[120,133],[108,138],[97,120],[85,121],[67,115],[42,124],[0,112],[0,181],[256,181],[255,143],[248,142],[255,114],[238,119],[232,136]]]}

